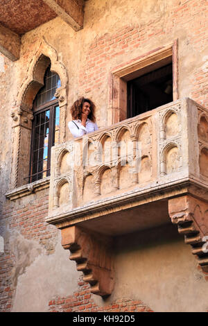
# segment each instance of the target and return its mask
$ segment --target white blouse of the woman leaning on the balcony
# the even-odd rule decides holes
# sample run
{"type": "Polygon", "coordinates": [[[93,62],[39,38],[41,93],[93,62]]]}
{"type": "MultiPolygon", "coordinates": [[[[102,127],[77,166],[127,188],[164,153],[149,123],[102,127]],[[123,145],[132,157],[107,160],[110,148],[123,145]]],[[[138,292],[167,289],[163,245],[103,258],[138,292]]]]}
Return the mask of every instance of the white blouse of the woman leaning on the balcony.
{"type": "Polygon", "coordinates": [[[98,126],[96,123],[92,122],[91,120],[87,119],[86,127],[82,125],[81,120],[73,120],[69,121],[68,123],[69,131],[73,135],[73,137],[81,137],[89,132],[93,132],[98,130],[98,126]]]}

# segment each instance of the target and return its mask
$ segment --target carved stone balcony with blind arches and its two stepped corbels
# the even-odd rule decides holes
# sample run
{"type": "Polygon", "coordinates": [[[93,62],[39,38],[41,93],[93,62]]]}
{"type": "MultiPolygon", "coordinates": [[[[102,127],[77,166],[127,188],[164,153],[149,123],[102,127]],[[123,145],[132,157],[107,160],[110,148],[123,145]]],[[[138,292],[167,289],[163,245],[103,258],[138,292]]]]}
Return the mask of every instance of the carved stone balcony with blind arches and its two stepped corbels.
{"type": "Polygon", "coordinates": [[[112,293],[112,239],[175,223],[204,271],[208,111],[189,98],[54,146],[48,223],[84,280],[112,293]]]}

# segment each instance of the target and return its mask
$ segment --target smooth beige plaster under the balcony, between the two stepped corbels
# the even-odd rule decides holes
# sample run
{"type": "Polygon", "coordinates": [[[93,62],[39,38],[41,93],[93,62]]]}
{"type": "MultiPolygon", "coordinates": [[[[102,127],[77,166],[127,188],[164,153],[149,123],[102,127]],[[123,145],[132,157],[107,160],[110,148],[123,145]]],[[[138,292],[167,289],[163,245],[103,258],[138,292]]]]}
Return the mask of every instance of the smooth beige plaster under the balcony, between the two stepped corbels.
{"type": "Polygon", "coordinates": [[[173,225],[119,239],[115,266],[116,298],[140,299],[153,311],[207,311],[205,275],[173,225]]]}

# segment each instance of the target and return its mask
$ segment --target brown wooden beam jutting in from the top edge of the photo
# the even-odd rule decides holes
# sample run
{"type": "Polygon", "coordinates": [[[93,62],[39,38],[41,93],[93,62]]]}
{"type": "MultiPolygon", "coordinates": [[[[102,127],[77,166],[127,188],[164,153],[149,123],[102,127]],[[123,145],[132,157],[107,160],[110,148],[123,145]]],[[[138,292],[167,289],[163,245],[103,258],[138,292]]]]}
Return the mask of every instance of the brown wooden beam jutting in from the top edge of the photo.
{"type": "Polygon", "coordinates": [[[43,0],[64,22],[75,31],[83,28],[84,1],[83,0],[43,0]]]}

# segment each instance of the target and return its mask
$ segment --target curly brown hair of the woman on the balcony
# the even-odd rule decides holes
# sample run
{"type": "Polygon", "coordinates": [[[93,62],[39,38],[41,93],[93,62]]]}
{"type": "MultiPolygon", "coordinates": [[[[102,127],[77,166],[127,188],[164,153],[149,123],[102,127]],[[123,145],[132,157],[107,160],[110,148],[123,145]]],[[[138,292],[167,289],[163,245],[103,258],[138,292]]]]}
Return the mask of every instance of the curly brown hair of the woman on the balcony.
{"type": "Polygon", "coordinates": [[[95,122],[96,118],[95,118],[94,114],[95,114],[96,106],[93,103],[93,101],[90,100],[89,98],[85,98],[85,97],[78,98],[78,100],[76,100],[73,103],[73,105],[71,106],[71,116],[72,116],[73,120],[78,120],[78,119],[81,120],[83,104],[85,102],[90,104],[90,113],[89,113],[88,119],[91,120],[92,122],[95,122]]]}

